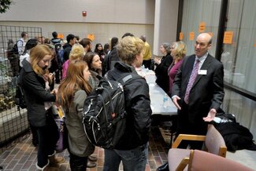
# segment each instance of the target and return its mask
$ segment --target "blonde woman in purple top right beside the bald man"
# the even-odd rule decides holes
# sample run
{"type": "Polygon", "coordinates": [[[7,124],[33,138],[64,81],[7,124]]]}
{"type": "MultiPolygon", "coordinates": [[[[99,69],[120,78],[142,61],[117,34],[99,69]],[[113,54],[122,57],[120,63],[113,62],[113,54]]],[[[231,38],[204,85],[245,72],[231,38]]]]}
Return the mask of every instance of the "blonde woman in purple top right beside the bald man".
{"type": "Polygon", "coordinates": [[[171,56],[173,56],[173,64],[169,67],[169,95],[172,94],[173,80],[180,69],[180,65],[186,56],[187,48],[184,42],[174,42],[171,47],[171,56]]]}

